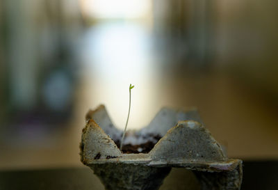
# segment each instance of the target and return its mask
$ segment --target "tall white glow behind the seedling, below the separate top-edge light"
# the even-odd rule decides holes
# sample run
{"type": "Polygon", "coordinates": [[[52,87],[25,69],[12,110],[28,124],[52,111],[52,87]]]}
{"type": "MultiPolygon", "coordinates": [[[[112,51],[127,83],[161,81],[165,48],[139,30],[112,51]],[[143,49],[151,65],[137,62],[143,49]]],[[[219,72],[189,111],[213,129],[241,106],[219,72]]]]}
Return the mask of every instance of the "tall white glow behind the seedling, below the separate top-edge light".
{"type": "Polygon", "coordinates": [[[106,104],[115,125],[123,129],[129,84],[133,84],[129,129],[147,125],[154,117],[155,113],[149,111],[157,99],[147,30],[131,23],[99,24],[85,34],[82,47],[83,63],[88,68],[86,80],[90,84],[88,108],[106,104]]]}

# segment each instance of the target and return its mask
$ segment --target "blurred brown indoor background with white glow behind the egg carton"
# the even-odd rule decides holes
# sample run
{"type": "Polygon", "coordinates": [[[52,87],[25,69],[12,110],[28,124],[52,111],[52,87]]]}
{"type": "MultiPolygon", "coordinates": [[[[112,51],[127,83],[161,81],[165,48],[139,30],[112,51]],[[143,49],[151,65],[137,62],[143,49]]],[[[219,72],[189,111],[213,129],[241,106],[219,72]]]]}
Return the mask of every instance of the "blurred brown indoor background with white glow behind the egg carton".
{"type": "Polygon", "coordinates": [[[82,166],[85,113],[121,129],[196,106],[229,157],[278,159],[278,1],[0,0],[0,170],[82,166]]]}

